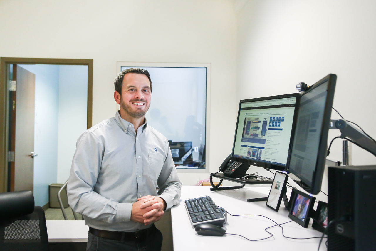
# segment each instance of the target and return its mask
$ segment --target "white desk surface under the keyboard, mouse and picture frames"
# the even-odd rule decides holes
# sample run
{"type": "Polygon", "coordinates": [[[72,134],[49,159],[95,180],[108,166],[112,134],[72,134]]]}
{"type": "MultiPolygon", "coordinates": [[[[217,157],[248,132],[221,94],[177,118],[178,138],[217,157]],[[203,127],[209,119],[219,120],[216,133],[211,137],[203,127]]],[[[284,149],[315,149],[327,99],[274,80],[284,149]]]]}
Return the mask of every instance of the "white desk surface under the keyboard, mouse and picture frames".
{"type": "MultiPolygon", "coordinates": [[[[180,204],[171,209],[174,251],[185,250],[314,250],[317,251],[320,239],[294,240],[282,236],[280,227],[269,228],[273,237],[251,242],[240,236],[225,234],[224,236],[200,236],[196,233],[188,219],[184,200],[201,196],[211,196],[215,204],[223,207],[231,214],[260,214],[273,219],[277,223],[288,222],[288,210],[283,202],[279,211],[268,208],[266,201],[247,202],[246,199],[268,197],[270,187],[244,187],[237,190],[210,191],[209,186],[182,186],[180,204]]],[[[288,189],[288,197],[291,189],[288,189]]],[[[227,223],[224,225],[227,233],[241,234],[248,239],[256,240],[270,236],[265,228],[275,225],[261,216],[231,216],[227,214],[227,223]]],[[[296,222],[282,225],[284,234],[288,237],[307,238],[322,235],[312,227],[312,220],[308,228],[303,228],[296,222]]],[[[326,250],[326,238],[321,242],[320,250],[326,250]]]]}

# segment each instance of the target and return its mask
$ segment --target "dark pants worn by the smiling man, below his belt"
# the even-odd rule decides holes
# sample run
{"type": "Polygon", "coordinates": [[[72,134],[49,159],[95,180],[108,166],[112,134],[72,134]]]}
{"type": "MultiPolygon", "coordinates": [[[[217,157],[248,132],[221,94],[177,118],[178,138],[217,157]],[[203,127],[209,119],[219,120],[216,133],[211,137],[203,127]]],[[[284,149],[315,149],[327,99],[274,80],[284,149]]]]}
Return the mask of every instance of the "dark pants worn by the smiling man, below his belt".
{"type": "Polygon", "coordinates": [[[162,233],[158,228],[152,227],[152,229],[153,231],[147,238],[140,242],[135,240],[111,240],[89,233],[86,251],[160,251],[162,248],[162,233]]]}

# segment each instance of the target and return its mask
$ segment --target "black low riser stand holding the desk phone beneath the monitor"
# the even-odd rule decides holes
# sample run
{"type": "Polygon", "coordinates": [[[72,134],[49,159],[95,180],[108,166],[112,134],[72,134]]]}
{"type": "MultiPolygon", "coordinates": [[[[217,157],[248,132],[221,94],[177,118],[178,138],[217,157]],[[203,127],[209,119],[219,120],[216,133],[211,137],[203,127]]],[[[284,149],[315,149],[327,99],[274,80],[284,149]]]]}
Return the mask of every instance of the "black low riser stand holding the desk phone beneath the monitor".
{"type": "MultiPolygon", "coordinates": [[[[246,176],[246,175],[249,175],[249,174],[244,174],[244,176],[246,176]]],[[[210,188],[210,191],[239,189],[239,188],[244,187],[245,185],[273,184],[273,180],[271,180],[271,181],[245,180],[245,179],[227,177],[227,176],[224,176],[223,173],[216,173],[216,174],[211,173],[210,176],[221,179],[220,182],[218,183],[218,185],[214,185],[212,179],[210,179],[210,184],[212,186],[212,188],[210,188]],[[227,180],[227,181],[233,181],[233,182],[241,183],[243,185],[233,186],[233,187],[219,187],[224,179],[227,180]]],[[[285,196],[286,196],[286,191],[285,191],[285,196]]],[[[286,198],[287,198],[287,196],[286,196],[286,198]]],[[[266,201],[266,200],[268,200],[268,197],[247,199],[247,202],[266,201]]]]}

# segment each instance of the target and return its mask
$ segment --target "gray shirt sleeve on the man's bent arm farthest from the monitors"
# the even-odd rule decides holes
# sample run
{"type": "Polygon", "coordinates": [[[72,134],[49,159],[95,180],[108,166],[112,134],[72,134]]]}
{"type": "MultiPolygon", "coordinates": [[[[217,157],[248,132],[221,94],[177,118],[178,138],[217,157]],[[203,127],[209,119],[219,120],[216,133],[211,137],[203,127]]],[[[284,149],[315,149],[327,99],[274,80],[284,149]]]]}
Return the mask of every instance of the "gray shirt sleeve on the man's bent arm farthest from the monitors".
{"type": "Polygon", "coordinates": [[[129,221],[132,203],[119,203],[94,191],[103,152],[102,142],[91,132],[77,140],[68,179],[68,203],[73,211],[92,219],[108,223],[129,221]]]}

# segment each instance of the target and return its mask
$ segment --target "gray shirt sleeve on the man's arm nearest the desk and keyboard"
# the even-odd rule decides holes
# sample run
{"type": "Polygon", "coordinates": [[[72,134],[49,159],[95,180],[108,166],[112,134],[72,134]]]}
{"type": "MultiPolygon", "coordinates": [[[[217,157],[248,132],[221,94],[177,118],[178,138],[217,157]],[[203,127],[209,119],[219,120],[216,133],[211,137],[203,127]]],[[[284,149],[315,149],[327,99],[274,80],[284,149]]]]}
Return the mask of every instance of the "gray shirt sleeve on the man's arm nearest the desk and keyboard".
{"type": "Polygon", "coordinates": [[[179,203],[182,185],[177,175],[167,139],[165,146],[167,148],[167,157],[158,178],[158,197],[165,200],[166,210],[170,210],[173,205],[179,203]]]}

